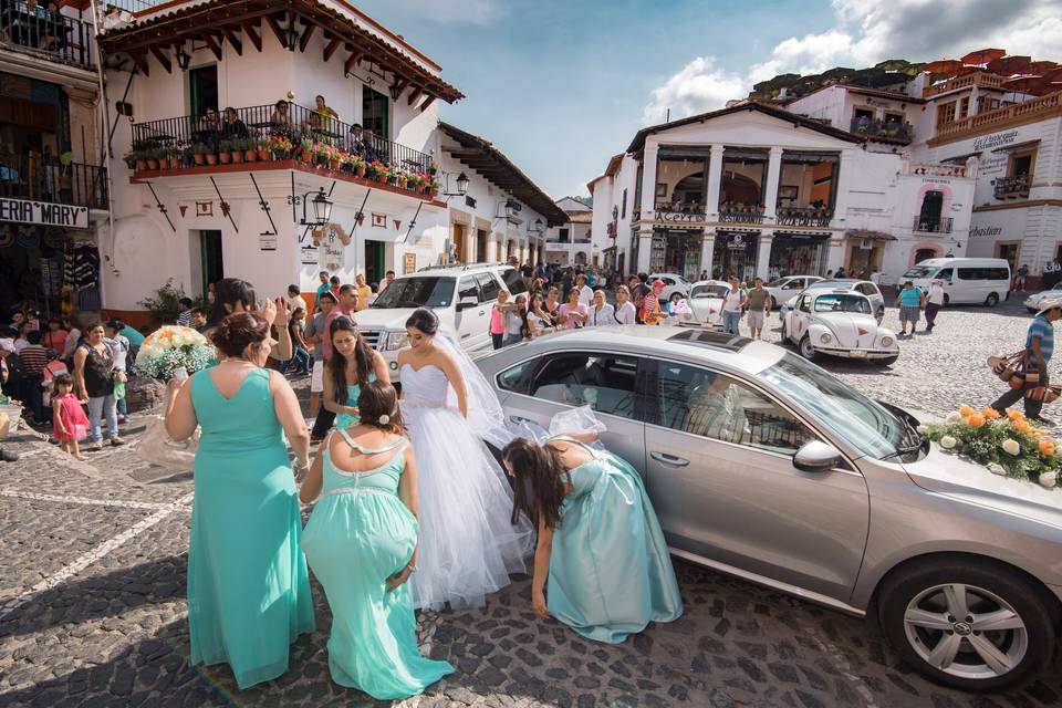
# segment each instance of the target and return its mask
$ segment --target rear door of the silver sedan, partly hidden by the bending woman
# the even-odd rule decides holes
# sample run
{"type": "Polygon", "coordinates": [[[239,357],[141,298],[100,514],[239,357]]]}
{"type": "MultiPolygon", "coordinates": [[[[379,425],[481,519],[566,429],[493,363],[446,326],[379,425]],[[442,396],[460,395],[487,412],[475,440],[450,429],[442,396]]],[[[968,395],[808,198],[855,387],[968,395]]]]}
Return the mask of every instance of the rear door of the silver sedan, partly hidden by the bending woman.
{"type": "Polygon", "coordinates": [[[549,429],[562,410],[589,405],[607,430],[605,447],[645,471],[645,396],[639,371],[647,360],[628,354],[573,351],[529,358],[498,375],[502,406],[516,425],[549,429]],[[507,394],[508,392],[508,394],[507,394]]]}

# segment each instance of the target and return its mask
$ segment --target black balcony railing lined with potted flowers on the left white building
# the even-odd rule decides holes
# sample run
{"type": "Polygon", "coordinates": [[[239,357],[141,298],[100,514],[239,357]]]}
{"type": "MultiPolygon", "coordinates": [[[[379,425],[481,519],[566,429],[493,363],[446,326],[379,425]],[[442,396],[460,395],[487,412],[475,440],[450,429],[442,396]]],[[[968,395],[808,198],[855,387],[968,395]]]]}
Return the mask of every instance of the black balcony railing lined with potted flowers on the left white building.
{"type": "Polygon", "coordinates": [[[176,118],[135,123],[133,152],[127,162],[167,160],[170,167],[228,162],[228,154],[268,149],[279,159],[308,164],[374,165],[389,174],[429,178],[437,166],[431,155],[386,140],[367,131],[355,131],[334,116],[294,103],[236,108],[229,118],[208,112],[176,118]],[[278,155],[280,154],[280,155],[278,155]],[[176,165],[175,165],[176,163],[176,165]]]}

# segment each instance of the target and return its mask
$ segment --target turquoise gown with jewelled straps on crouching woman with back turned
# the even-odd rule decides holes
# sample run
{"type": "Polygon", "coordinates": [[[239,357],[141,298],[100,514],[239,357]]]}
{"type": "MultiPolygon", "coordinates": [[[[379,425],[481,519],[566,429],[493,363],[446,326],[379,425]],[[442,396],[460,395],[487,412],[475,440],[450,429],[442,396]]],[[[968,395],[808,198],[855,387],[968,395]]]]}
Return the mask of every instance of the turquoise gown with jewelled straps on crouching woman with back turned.
{"type": "Polygon", "coordinates": [[[386,586],[417,545],[417,520],[398,498],[408,440],[369,449],[345,429],[339,434],[365,455],[395,454],[374,470],[344,472],[332,464],[327,447],[324,452],[322,499],[302,548],[332,607],[329,670],[336,684],[373,698],[406,698],[454,673],[446,662],[420,655],[409,583],[393,592],[386,586]]]}

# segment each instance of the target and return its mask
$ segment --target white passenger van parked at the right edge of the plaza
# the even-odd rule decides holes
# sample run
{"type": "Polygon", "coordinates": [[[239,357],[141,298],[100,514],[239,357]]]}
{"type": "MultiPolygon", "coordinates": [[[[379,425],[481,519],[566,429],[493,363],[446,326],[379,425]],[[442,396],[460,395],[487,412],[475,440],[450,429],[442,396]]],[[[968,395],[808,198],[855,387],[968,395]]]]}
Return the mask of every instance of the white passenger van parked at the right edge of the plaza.
{"type": "Polygon", "coordinates": [[[930,280],[944,281],[944,304],[986,304],[992,308],[1010,291],[1010,263],[1002,258],[930,258],[916,263],[897,285],[912,281],[929,289],[930,280]]]}

